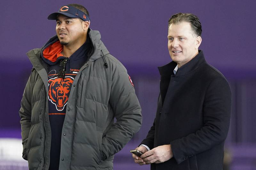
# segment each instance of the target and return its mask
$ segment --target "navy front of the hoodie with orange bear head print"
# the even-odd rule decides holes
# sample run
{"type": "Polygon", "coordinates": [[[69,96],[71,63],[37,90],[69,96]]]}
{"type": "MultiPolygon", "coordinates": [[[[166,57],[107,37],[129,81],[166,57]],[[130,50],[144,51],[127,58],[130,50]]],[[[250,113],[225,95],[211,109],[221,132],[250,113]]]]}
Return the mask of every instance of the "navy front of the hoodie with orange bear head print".
{"type": "Polygon", "coordinates": [[[57,64],[49,66],[48,106],[49,121],[52,131],[49,170],[59,170],[61,132],[66,115],[68,97],[74,78],[87,61],[89,46],[88,40],[68,58],[65,78],[58,78],[58,72],[61,69],[60,62],[66,57],[59,57],[57,64]]]}

